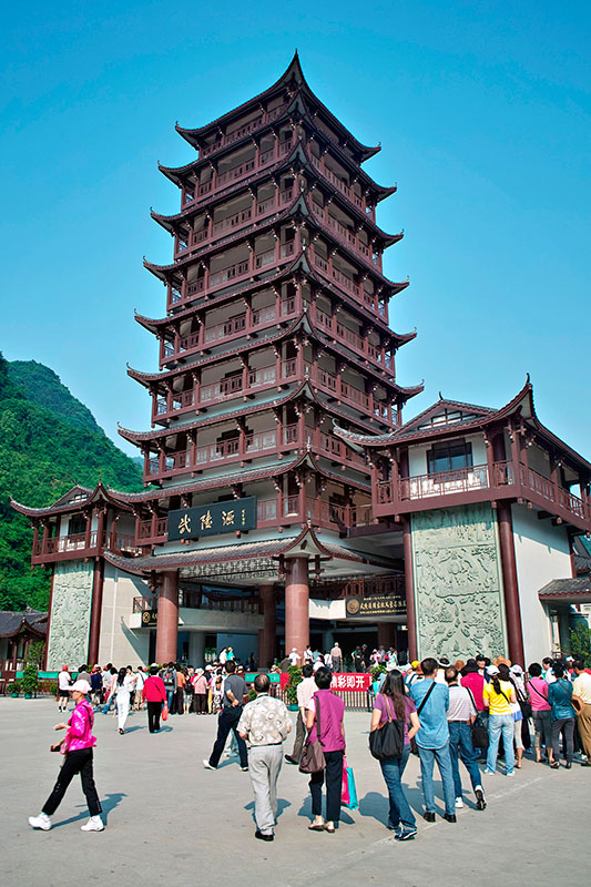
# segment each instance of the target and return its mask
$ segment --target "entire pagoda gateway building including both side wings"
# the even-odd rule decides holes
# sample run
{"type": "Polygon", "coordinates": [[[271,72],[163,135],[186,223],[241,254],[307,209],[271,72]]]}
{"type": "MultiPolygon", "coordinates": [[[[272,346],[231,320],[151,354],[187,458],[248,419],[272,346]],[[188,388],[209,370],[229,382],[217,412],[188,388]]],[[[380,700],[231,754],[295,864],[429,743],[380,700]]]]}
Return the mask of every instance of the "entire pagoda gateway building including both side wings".
{"type": "Polygon", "coordinates": [[[303,652],[330,632],[412,657],[547,654],[539,591],[574,574],[591,465],[539,421],[529,379],[500,409],[441,398],[403,421],[422,385],[396,375],[416,333],[390,318],[408,281],[384,276],[403,234],[376,217],[396,187],[363,169],[379,146],[327,110],[297,54],[249,102],[176,129],[190,162],[160,170],[179,212],[152,213],[173,262],[145,263],[165,305],[135,316],[160,370],[129,369],[151,427],[120,428],[145,489],[12,502],[32,564],[52,569],[48,667],[164,662],[185,643],[198,657],[214,634],[256,639],[263,665],[281,639],[303,652]],[[365,603],[400,601],[403,582],[404,612],[365,603]]]}

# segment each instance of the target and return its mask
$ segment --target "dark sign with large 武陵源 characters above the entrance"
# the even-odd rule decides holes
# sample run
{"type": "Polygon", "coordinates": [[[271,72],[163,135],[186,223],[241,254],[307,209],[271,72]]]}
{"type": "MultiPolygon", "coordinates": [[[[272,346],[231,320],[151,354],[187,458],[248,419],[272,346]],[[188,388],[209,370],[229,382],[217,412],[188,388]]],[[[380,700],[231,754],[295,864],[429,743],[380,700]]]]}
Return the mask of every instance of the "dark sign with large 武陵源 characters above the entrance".
{"type": "Polygon", "coordinates": [[[256,528],[256,496],[169,512],[169,541],[256,528]]]}

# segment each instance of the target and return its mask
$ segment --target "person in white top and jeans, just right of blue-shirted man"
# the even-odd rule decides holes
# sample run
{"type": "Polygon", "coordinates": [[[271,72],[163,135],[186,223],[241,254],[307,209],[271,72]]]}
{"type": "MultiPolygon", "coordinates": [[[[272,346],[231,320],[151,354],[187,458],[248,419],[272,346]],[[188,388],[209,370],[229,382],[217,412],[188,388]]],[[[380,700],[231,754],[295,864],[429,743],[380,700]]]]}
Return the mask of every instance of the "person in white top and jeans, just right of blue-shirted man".
{"type": "Polygon", "coordinates": [[[477,718],[478,708],[476,701],[468,687],[459,683],[458,670],[454,666],[446,669],[446,682],[449,690],[449,708],[447,710],[447,725],[449,727],[449,754],[456,787],[456,809],[463,807],[459,758],[470,777],[476,796],[476,806],[483,810],[487,806],[482,779],[478,769],[477,755],[472,746],[472,724],[477,718]]]}

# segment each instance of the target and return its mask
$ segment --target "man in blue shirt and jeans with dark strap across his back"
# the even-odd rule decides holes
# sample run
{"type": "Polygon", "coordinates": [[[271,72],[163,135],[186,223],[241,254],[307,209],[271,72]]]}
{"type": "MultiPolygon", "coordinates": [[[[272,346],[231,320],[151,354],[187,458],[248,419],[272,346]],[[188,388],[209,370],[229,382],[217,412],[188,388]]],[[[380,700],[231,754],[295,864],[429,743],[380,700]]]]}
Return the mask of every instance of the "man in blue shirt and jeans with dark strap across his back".
{"type": "Polygon", "coordinates": [[[435,792],[432,782],[434,765],[437,761],[446,812],[444,818],[455,823],[455,788],[449,755],[449,727],[447,711],[449,708],[449,690],[445,684],[436,682],[438,663],[430,656],[420,663],[422,681],[410,687],[410,696],[417,706],[420,728],[416,735],[416,743],[420,758],[420,779],[422,796],[425,798],[425,813],[422,818],[427,823],[435,823],[435,792]]]}

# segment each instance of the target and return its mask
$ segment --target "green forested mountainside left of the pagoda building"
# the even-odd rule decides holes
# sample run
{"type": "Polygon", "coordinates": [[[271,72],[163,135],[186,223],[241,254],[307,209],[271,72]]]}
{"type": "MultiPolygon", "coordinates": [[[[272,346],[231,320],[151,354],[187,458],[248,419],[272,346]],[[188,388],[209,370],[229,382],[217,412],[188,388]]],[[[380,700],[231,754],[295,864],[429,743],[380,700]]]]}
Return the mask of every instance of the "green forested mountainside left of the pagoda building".
{"type": "Polygon", "coordinates": [[[31,570],[32,529],[12,496],[43,507],[74,483],[142,489],[142,470],[96,425],[90,410],[35,361],[0,354],[0,610],[47,608],[49,572],[31,570]]]}

